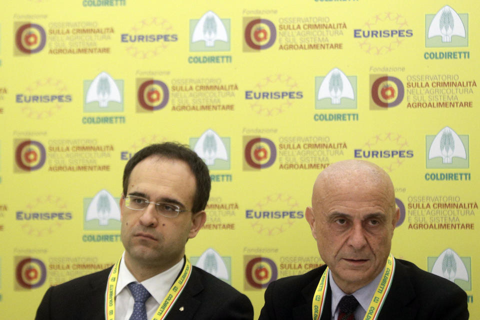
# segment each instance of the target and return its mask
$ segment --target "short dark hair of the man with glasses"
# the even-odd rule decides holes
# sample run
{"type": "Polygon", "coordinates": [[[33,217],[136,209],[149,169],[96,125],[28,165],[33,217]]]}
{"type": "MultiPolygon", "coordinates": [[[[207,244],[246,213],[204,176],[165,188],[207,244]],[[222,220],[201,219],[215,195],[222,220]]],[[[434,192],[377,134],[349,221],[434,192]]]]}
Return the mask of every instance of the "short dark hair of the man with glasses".
{"type": "Polygon", "coordinates": [[[137,151],[126,162],[125,169],[123,170],[123,195],[126,195],[128,189],[128,181],[130,179],[131,170],[144,158],[150,155],[158,155],[168,159],[177,159],[184,161],[191,169],[191,172],[195,176],[196,186],[195,194],[193,196],[192,212],[198,212],[205,209],[206,202],[210,196],[210,173],[205,162],[187,145],[183,145],[177,142],[163,142],[150,144],[141,150],[137,151]]]}

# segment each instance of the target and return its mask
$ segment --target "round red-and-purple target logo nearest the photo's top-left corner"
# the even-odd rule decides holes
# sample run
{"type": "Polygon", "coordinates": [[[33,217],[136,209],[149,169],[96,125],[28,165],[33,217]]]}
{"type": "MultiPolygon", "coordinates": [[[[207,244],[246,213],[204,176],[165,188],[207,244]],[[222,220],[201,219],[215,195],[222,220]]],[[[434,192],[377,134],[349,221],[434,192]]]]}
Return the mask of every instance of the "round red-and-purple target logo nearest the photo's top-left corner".
{"type": "Polygon", "coordinates": [[[15,33],[16,47],[23,53],[36,53],[43,49],[46,34],[43,27],[35,23],[22,24],[15,33]]]}

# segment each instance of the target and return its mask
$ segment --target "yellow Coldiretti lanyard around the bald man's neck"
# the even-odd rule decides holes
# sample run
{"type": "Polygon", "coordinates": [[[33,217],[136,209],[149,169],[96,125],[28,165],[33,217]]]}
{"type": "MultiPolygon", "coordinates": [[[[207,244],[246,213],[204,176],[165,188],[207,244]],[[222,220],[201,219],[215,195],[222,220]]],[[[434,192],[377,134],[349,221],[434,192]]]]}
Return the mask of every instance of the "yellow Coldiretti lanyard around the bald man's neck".
{"type": "MultiPolygon", "coordinates": [[[[385,270],[383,271],[380,283],[378,283],[378,286],[370,301],[370,305],[368,305],[368,309],[366,310],[363,320],[375,320],[378,317],[378,313],[380,313],[380,309],[383,306],[383,302],[385,301],[388,290],[390,289],[394,272],[395,259],[390,253],[386,260],[385,270]]],[[[323,311],[326,288],[328,286],[328,273],[329,268],[326,267],[325,271],[321,275],[320,281],[318,282],[318,286],[316,287],[315,293],[313,295],[313,301],[311,304],[313,320],[318,320],[321,316],[321,312],[323,311]]]]}

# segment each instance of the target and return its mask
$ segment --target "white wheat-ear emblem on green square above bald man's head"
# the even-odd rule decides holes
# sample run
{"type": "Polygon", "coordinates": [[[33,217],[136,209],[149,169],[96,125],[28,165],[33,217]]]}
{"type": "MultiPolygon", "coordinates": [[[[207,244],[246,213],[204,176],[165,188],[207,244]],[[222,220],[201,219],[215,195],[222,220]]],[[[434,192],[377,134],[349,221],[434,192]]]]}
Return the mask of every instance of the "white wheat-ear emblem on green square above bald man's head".
{"type": "Polygon", "coordinates": [[[356,109],[356,76],[333,68],[315,77],[315,109],[356,109]]]}

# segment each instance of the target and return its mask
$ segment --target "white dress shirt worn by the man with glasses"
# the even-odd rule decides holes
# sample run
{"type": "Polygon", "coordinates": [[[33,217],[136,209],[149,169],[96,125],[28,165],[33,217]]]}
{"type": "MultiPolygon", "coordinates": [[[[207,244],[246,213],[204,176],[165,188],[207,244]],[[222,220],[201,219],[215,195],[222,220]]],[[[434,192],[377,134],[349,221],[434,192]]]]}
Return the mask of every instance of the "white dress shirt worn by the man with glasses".
{"type": "Polygon", "coordinates": [[[145,301],[146,316],[148,319],[153,318],[158,306],[163,298],[168,293],[171,285],[175,281],[176,277],[180,273],[183,266],[183,260],[181,259],[166,271],[158,273],[146,280],[138,282],[130,270],[125,265],[125,252],[121,256],[121,261],[118,270],[118,281],[116,283],[115,290],[115,320],[128,320],[133,312],[133,296],[127,287],[130,282],[141,283],[145,289],[150,292],[151,296],[145,301]]]}

